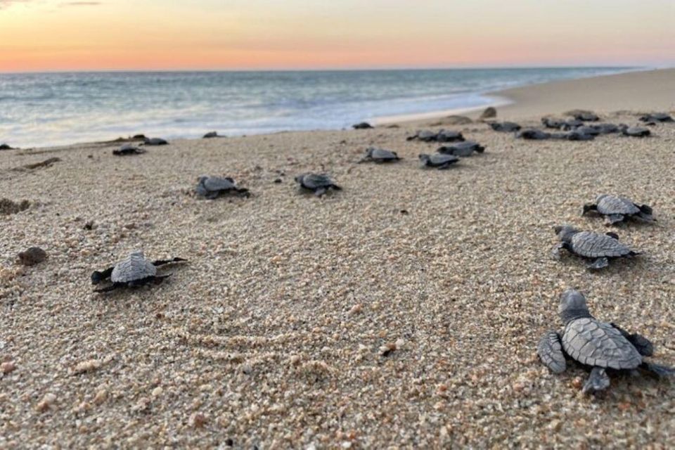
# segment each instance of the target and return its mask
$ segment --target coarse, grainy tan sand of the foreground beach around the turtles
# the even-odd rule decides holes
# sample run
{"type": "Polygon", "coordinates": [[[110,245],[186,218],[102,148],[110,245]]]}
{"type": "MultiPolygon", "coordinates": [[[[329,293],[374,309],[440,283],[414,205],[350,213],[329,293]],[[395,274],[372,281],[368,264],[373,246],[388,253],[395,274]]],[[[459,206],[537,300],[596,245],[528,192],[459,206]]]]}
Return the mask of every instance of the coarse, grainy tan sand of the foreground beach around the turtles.
{"type": "Polygon", "coordinates": [[[1,196],[32,202],[0,216],[0,447],[674,446],[672,383],[584,397],[586,372],[552,375],[535,347],[576,287],[675,365],[675,124],[592,142],[463,125],[487,151],[446,171],[418,167],[436,146],[413,129],[0,153],[1,196]],[[372,144],[405,159],[355,164],[372,144]],[[297,192],[321,170],[344,190],[297,192]],[[253,196],[198,200],[200,174],[253,196]],[[579,215],[603,192],[654,207],[657,224],[617,229],[644,255],[598,274],[551,259],[553,225],[607,231],[579,215]],[[19,266],[33,245],[49,258],[19,266]],[[136,248],[190,262],[92,293],[91,271],[136,248]]]}

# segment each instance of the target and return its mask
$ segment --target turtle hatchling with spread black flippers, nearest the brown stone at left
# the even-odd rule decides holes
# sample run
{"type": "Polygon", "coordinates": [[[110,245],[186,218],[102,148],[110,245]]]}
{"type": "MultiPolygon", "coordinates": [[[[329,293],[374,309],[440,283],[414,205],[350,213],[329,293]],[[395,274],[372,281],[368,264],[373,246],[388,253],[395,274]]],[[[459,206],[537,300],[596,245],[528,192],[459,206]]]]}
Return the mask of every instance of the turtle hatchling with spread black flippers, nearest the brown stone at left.
{"type": "Polygon", "coordinates": [[[97,285],[110,278],[110,281],[113,284],[106,288],[94,291],[97,293],[106,293],[110,290],[122,288],[123,286],[134,288],[148,283],[159,284],[164,278],[170,276],[170,274],[158,275],[157,266],[184,261],[187,261],[187,259],[159,259],[158,261],[150,262],[143,256],[143,252],[136,251],[132,252],[131,255],[122,259],[122,261],[118,262],[113,267],[109,267],[104,271],[94,271],[94,273],[91,274],[91,284],[97,285]]]}

